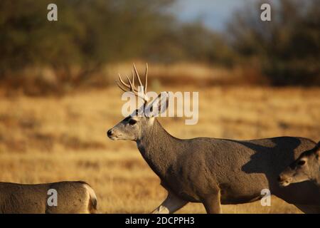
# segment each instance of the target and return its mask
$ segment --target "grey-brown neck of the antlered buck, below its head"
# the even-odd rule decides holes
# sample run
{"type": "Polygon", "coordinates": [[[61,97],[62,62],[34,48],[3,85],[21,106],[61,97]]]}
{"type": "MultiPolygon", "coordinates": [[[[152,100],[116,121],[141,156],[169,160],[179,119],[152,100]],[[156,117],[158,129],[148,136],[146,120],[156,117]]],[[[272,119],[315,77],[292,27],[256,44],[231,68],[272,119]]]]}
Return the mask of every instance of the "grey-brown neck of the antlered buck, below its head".
{"type": "Polygon", "coordinates": [[[151,169],[162,179],[169,167],[174,165],[181,140],[166,132],[158,120],[137,140],[137,147],[151,169]]]}

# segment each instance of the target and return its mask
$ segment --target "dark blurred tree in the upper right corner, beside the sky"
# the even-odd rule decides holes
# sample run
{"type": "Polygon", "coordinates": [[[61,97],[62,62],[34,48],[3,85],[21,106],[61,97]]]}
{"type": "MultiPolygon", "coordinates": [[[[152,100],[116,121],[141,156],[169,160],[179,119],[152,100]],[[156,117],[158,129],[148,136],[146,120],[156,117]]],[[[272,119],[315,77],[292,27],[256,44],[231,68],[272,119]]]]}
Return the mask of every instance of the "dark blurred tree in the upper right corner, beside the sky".
{"type": "Polygon", "coordinates": [[[270,22],[257,20],[261,3],[241,9],[230,21],[235,51],[246,61],[257,60],[273,86],[319,85],[320,1],[270,1],[270,22]]]}

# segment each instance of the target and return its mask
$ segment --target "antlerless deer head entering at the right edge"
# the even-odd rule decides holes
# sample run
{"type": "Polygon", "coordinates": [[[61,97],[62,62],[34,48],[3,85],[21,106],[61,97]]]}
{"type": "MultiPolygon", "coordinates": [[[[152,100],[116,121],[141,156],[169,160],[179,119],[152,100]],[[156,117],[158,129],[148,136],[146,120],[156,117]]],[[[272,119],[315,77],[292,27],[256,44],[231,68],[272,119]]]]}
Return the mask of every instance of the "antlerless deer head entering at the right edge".
{"type": "Polygon", "coordinates": [[[311,180],[320,188],[320,141],[311,150],[303,152],[297,160],[279,175],[279,185],[311,180]]]}

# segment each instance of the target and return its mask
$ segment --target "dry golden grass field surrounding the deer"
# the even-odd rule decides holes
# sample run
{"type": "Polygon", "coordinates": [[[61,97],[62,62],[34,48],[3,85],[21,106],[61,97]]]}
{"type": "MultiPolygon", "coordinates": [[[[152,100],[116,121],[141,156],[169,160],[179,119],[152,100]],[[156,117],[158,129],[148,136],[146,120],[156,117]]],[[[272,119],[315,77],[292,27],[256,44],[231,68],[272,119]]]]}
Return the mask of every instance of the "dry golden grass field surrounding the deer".
{"type": "MultiPolygon", "coordinates": [[[[149,90],[199,90],[192,87],[149,90]]],[[[0,181],[39,183],[84,180],[95,189],[101,213],[146,213],[166,196],[134,142],[112,141],[106,131],[122,120],[116,86],[82,90],[63,97],[0,98],[0,181]]],[[[208,87],[199,90],[199,121],[161,118],[179,138],[208,136],[253,139],[295,135],[320,136],[320,88],[208,87]]],[[[188,204],[182,213],[204,213],[188,204]]],[[[272,198],[224,205],[224,213],[299,213],[272,198]]]]}

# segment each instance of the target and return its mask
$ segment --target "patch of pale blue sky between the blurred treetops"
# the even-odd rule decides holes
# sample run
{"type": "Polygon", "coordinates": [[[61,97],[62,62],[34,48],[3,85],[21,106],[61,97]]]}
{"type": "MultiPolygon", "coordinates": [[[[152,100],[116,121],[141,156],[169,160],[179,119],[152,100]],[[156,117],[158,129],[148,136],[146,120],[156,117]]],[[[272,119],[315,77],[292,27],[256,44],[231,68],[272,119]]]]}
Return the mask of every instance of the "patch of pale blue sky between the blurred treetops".
{"type": "Polygon", "coordinates": [[[233,11],[257,0],[178,0],[173,11],[181,21],[201,20],[215,30],[223,30],[233,11]]]}

